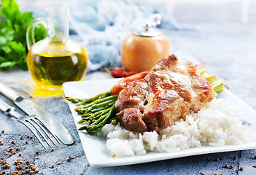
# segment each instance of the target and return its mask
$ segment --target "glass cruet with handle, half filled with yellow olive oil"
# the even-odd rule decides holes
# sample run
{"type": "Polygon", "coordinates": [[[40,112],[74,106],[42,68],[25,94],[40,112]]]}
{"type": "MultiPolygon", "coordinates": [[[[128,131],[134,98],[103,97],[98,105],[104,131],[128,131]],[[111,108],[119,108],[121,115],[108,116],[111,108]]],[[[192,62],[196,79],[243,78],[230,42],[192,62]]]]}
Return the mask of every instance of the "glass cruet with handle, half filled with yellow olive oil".
{"type": "Polygon", "coordinates": [[[40,88],[62,89],[63,82],[80,81],[87,69],[88,55],[69,39],[69,8],[47,7],[46,18],[35,18],[27,29],[28,71],[40,88]],[[35,43],[34,29],[42,24],[47,37],[35,43]]]}

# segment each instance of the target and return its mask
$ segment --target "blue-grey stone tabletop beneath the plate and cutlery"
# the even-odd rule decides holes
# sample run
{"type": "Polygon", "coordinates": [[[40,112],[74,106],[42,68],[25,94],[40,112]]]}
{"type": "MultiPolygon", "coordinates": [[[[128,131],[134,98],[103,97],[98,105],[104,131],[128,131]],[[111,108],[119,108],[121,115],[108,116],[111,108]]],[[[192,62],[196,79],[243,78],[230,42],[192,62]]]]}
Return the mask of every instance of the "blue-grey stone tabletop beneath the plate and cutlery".
{"type": "MultiPolygon", "coordinates": [[[[171,52],[180,55],[185,61],[201,61],[206,70],[225,80],[229,90],[256,109],[256,23],[186,23],[197,30],[163,30],[171,44],[171,52]]],[[[15,119],[0,112],[0,157],[4,157],[15,170],[13,160],[31,161],[39,174],[256,174],[256,149],[235,152],[198,155],[187,158],[161,160],[131,166],[93,168],[88,164],[82,144],[79,140],[69,106],[63,96],[36,96],[39,90],[28,71],[12,69],[0,72],[1,81],[26,98],[31,98],[48,112],[55,115],[68,128],[75,143],[71,146],[61,144],[59,147],[43,149],[36,139],[27,139],[30,131],[15,119]],[[20,139],[23,136],[23,139],[20,139]],[[12,144],[11,141],[14,141],[12,144]],[[28,144],[25,142],[28,141],[28,144]],[[18,147],[15,155],[6,154],[9,147],[18,147]],[[36,155],[36,151],[39,154],[36,155]],[[21,154],[21,156],[18,155],[21,154]],[[66,158],[71,157],[71,161],[66,158]],[[237,159],[234,159],[237,156],[237,159]],[[36,159],[38,157],[39,159],[36,159]],[[210,160],[207,160],[210,158],[210,160]],[[219,158],[219,161],[215,161],[219,158]],[[57,163],[61,162],[61,165],[57,163]],[[223,168],[225,165],[233,168],[223,168]],[[54,168],[50,166],[54,165],[54,168]],[[240,167],[243,171],[239,171],[240,167]]],[[[84,81],[108,79],[97,71],[85,76],[84,81]]],[[[0,98],[12,104],[0,94],[0,98]]],[[[18,110],[21,112],[20,110],[18,110]]],[[[2,171],[2,170],[1,170],[2,171]]]]}

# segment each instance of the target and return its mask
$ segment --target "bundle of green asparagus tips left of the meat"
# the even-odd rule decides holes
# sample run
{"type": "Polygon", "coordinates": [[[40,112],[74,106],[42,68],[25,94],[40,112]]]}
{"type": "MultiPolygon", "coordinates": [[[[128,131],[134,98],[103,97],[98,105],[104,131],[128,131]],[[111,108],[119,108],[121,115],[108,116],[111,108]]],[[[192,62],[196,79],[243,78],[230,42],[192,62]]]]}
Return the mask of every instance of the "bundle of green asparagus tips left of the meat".
{"type": "Polygon", "coordinates": [[[68,101],[76,104],[74,110],[81,114],[82,120],[79,124],[85,124],[79,131],[86,130],[88,133],[96,133],[106,125],[106,123],[117,124],[115,117],[115,101],[118,95],[111,96],[111,90],[93,96],[91,98],[71,98],[66,97],[68,101]]]}

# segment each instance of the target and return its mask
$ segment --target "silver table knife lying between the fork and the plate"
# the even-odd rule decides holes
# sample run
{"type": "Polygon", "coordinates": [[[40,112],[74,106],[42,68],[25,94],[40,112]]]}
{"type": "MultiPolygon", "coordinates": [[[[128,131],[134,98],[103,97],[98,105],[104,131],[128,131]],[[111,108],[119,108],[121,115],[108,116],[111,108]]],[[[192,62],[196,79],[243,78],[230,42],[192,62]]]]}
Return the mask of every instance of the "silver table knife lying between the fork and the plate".
{"type": "Polygon", "coordinates": [[[15,90],[12,90],[12,88],[9,88],[1,81],[0,93],[12,100],[17,106],[20,107],[20,109],[23,110],[23,112],[26,112],[26,114],[41,117],[42,120],[44,120],[44,123],[46,123],[47,126],[52,129],[55,136],[57,136],[58,139],[63,142],[63,144],[74,144],[74,139],[69,131],[62,125],[62,123],[60,123],[52,114],[42,109],[41,106],[34,103],[34,101],[20,96],[15,92],[15,90]]]}

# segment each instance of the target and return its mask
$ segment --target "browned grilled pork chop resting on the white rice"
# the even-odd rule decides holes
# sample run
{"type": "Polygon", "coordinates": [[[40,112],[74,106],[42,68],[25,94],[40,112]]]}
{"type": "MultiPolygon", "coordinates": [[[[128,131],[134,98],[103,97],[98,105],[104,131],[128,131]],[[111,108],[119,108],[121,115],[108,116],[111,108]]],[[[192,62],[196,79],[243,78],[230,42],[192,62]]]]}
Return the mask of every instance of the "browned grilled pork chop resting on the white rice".
{"type": "Polygon", "coordinates": [[[117,120],[129,131],[158,131],[179,117],[198,112],[215,96],[195,66],[181,66],[175,55],[169,55],[144,79],[120,91],[115,104],[117,120]]]}

